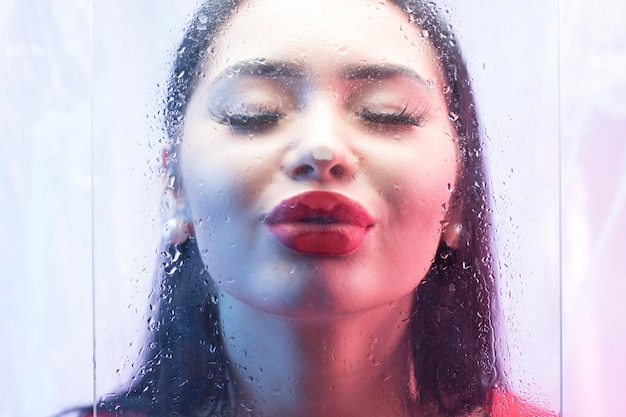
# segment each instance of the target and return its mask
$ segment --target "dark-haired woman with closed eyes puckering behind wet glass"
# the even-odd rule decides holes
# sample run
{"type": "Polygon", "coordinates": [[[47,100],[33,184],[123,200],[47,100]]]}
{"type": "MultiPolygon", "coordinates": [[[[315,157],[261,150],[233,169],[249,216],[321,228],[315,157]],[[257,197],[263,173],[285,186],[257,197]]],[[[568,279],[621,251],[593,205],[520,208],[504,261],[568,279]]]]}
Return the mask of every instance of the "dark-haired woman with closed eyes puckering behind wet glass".
{"type": "Polygon", "coordinates": [[[102,413],[504,415],[477,116],[431,3],[207,1],[168,93],[149,359],[102,413]]]}

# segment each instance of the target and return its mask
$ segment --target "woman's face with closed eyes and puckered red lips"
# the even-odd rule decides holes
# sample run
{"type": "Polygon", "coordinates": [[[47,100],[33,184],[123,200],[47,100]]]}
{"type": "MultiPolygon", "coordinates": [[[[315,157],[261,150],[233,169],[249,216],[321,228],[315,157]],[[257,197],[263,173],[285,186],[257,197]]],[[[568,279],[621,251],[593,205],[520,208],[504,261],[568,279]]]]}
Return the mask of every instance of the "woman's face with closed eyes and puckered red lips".
{"type": "Polygon", "coordinates": [[[299,318],[409,299],[459,168],[427,34],[378,0],[310,5],[240,7],[197,78],[180,146],[215,282],[299,318]]]}

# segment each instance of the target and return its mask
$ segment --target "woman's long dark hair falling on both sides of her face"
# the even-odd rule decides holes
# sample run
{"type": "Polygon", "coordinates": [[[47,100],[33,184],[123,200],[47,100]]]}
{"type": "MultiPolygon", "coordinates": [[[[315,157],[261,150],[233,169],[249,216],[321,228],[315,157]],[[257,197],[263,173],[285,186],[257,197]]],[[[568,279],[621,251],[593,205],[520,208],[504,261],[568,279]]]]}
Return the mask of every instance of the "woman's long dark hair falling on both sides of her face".
{"type": "MultiPolygon", "coordinates": [[[[174,152],[195,80],[212,41],[236,10],[237,0],[208,0],[196,12],[176,51],[167,90],[165,127],[174,152]]],[[[465,62],[451,27],[432,2],[394,0],[434,46],[450,88],[449,110],[459,136],[461,173],[450,210],[462,225],[454,248],[441,242],[415,290],[412,350],[419,401],[447,415],[489,404],[498,381],[495,351],[498,299],[491,255],[490,204],[479,122],[465,62]]],[[[311,6],[313,7],[313,6],[311,6]]],[[[178,181],[177,183],[180,183],[178,181]]],[[[176,190],[182,192],[183,190],[176,190]]],[[[113,415],[138,410],[149,416],[230,416],[238,387],[229,375],[215,284],[195,240],[166,247],[159,259],[143,363],[128,390],[97,404],[113,415]],[[116,411],[118,410],[118,411],[116,411]]]]}

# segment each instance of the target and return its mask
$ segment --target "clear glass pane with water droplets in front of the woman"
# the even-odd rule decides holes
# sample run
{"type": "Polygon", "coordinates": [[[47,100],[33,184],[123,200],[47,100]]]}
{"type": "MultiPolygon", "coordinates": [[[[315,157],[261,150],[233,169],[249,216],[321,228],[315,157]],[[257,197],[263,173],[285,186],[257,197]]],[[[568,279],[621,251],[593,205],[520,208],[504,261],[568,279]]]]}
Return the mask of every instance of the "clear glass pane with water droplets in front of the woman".
{"type": "Polygon", "coordinates": [[[556,2],[94,4],[97,405],[554,415],[556,2]]]}

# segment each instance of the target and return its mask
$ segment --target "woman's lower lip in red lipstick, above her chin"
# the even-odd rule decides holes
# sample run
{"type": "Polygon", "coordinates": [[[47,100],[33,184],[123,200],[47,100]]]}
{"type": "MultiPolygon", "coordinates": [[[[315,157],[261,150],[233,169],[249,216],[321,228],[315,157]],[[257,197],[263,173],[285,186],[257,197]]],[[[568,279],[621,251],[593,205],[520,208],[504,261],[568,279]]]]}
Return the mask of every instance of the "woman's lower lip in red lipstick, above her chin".
{"type": "Polygon", "coordinates": [[[291,250],[315,255],[347,255],[355,251],[367,228],[345,223],[278,223],[270,232],[291,250]]]}

